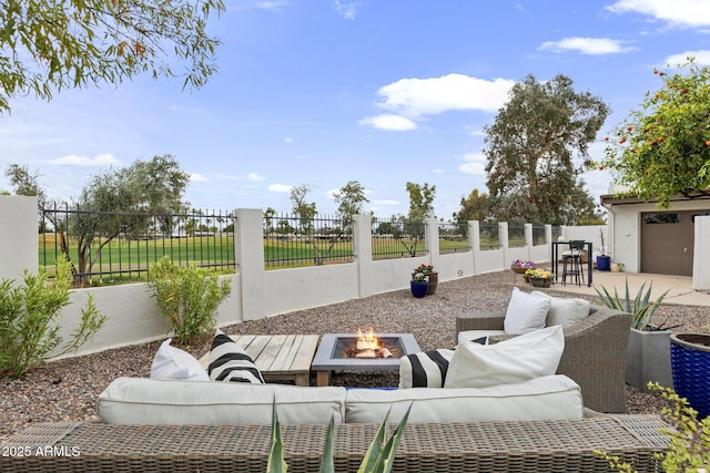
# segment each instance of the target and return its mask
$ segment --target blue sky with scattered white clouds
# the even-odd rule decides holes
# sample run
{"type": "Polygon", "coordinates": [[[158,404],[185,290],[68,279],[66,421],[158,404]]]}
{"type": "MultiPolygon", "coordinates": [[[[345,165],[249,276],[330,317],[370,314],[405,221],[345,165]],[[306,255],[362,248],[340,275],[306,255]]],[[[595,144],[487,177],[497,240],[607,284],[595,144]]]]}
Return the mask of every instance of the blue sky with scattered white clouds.
{"type": "MultiPolygon", "coordinates": [[[[410,181],[436,185],[449,218],[487,191],[483,128],[515,82],[565,74],[600,96],[612,109],[601,140],[661,85],[653,68],[710,63],[710,0],[225,3],[210,27],[220,72],[203,89],[141,76],[18,97],[0,116],[0,167],[39,169],[68,198],[91,175],[172,154],[196,208],[288,212],[290,188],[307,184],[329,214],[332,192],[356,179],[381,217],[406,214],[410,181]]],[[[611,181],[585,178],[595,196],[611,181]]]]}

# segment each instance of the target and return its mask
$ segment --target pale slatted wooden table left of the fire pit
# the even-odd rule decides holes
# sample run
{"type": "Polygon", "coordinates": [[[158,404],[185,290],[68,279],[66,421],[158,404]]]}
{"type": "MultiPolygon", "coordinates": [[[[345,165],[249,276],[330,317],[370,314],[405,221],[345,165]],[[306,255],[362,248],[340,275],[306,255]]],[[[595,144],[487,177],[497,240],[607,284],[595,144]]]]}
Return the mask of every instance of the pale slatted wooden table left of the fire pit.
{"type": "MultiPolygon", "coordinates": [[[[264,381],[293,381],[311,384],[311,362],[318,347],[317,335],[231,335],[252,357],[264,381]]],[[[207,367],[210,353],[200,359],[207,367]]]]}

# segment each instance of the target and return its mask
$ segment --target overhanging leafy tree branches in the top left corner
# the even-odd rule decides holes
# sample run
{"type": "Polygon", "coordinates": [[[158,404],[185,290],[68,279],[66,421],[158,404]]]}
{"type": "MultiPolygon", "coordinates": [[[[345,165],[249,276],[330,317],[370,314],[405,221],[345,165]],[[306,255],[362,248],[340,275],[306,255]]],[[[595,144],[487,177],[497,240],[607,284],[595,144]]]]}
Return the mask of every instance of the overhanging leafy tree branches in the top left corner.
{"type": "Polygon", "coordinates": [[[141,73],[199,89],[216,71],[207,20],[224,9],[223,0],[0,0],[0,113],[16,95],[50,100],[141,73]]]}

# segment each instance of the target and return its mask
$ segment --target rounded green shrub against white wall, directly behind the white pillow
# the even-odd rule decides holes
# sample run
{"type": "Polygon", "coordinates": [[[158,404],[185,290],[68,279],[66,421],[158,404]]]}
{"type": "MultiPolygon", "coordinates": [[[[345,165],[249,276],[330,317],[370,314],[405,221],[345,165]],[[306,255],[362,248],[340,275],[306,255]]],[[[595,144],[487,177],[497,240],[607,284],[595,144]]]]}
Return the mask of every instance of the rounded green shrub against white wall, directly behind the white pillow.
{"type": "Polygon", "coordinates": [[[195,266],[174,265],[164,256],[150,270],[149,287],[180,343],[213,331],[217,307],[231,291],[230,281],[195,266]]]}

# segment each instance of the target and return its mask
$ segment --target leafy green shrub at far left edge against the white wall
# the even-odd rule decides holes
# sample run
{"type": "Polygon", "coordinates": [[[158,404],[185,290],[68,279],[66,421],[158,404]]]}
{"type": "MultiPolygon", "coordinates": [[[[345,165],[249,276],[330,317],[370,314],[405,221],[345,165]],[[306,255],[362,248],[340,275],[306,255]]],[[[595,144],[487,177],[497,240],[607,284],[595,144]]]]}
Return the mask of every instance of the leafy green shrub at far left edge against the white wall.
{"type": "MultiPolygon", "coordinates": [[[[16,285],[12,279],[0,282],[0,377],[22,378],[62,343],[55,322],[61,309],[71,304],[71,278],[69,267],[59,264],[51,281],[40,268],[37,276],[26,270],[23,285],[16,285]]],[[[75,351],[104,321],[90,295],[79,327],[57,354],[75,351]]]]}

